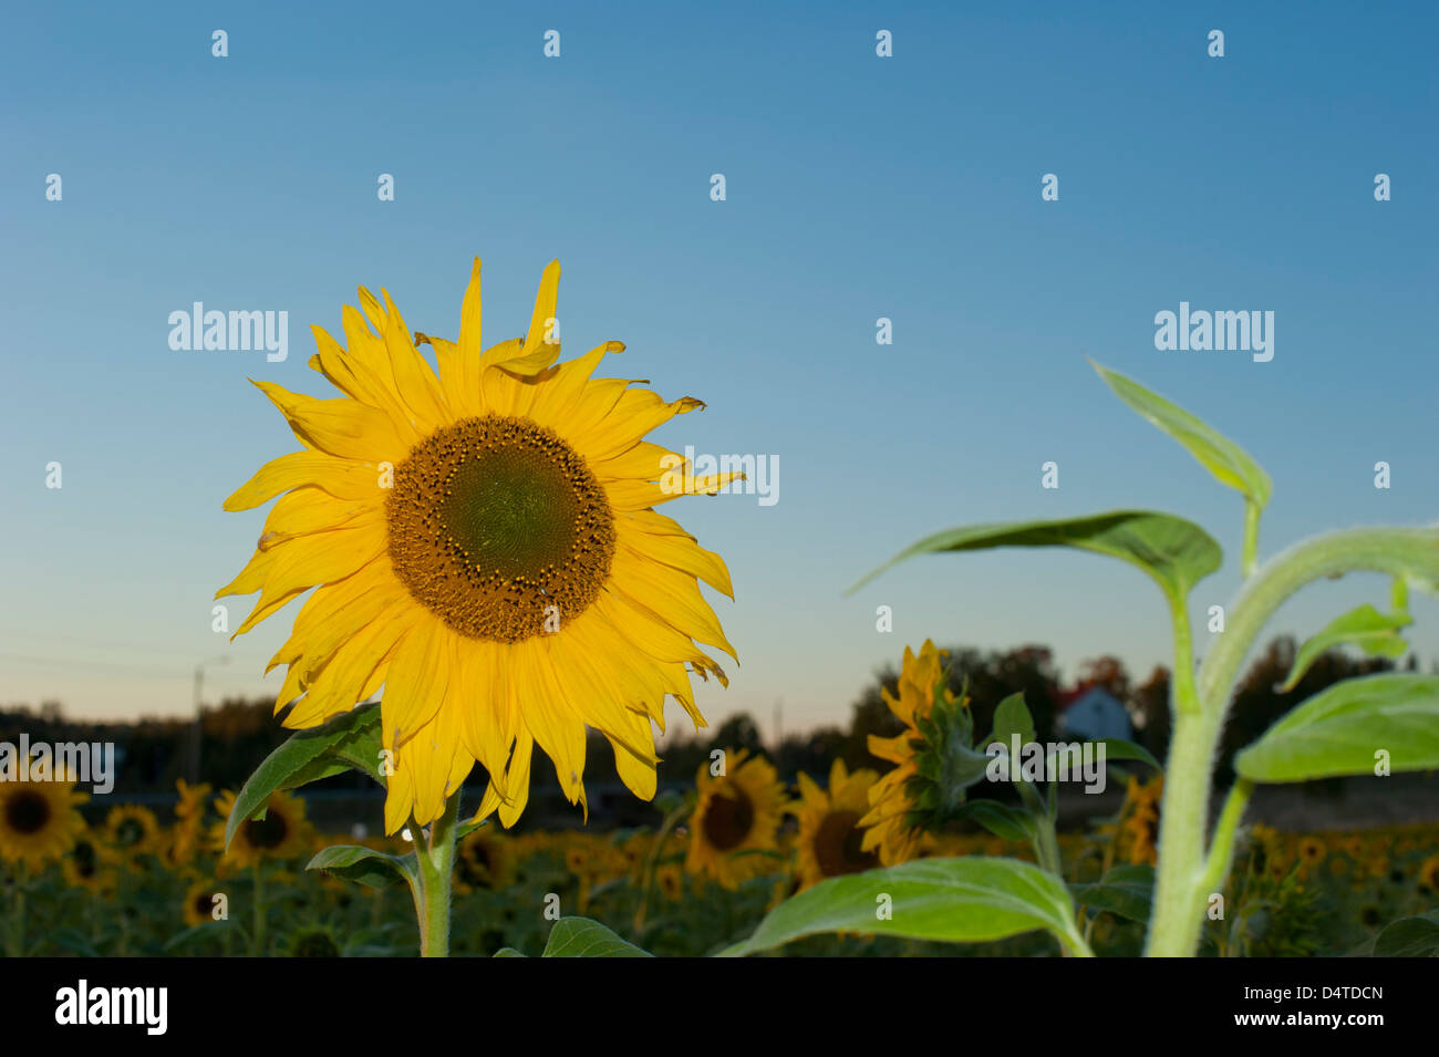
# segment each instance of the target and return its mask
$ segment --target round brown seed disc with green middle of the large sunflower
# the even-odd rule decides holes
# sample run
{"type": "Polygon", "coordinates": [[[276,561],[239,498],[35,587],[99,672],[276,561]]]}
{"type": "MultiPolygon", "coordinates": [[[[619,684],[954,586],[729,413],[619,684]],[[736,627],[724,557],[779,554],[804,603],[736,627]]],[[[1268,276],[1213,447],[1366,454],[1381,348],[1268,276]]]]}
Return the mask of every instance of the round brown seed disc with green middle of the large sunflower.
{"type": "Polygon", "coordinates": [[[527,418],[465,418],[394,469],[390,561],[416,601],[471,639],[557,631],[609,580],[614,516],[584,459],[527,418]]]}

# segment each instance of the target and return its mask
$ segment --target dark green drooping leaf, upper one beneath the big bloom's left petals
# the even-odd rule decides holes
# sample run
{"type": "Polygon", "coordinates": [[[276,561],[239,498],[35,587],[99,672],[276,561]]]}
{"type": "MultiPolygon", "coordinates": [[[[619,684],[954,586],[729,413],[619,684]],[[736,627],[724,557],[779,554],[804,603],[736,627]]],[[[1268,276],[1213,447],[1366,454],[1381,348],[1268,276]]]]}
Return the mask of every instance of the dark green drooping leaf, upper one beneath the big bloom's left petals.
{"type": "Polygon", "coordinates": [[[364,771],[381,785],[380,705],[361,705],[322,726],[301,731],[265,758],[252,774],[224,824],[224,847],[248,818],[263,818],[272,794],[328,778],[344,771],[364,771]]]}

